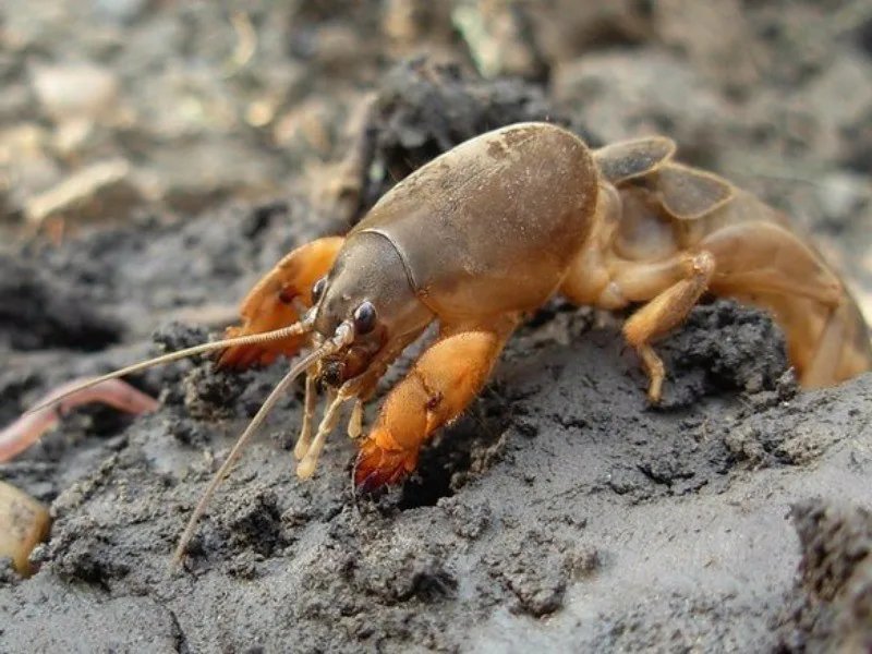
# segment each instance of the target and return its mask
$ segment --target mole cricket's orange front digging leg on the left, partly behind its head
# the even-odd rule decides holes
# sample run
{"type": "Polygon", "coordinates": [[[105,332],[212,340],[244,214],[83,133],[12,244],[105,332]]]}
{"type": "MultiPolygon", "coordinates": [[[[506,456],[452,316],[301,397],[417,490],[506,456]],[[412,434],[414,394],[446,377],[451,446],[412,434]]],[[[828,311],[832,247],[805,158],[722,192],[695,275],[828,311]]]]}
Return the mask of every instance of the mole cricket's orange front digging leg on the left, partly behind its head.
{"type": "MultiPolygon", "coordinates": [[[[226,337],[262,334],[296,323],[301,308],[312,306],[312,286],[330,270],[343,242],[341,237],[326,237],[301,245],[282,258],[242,301],[242,325],[228,328],[226,337]]],[[[295,336],[230,347],[221,353],[218,365],[238,370],[268,365],[281,354],[295,354],[303,340],[303,336],[295,336]]]]}

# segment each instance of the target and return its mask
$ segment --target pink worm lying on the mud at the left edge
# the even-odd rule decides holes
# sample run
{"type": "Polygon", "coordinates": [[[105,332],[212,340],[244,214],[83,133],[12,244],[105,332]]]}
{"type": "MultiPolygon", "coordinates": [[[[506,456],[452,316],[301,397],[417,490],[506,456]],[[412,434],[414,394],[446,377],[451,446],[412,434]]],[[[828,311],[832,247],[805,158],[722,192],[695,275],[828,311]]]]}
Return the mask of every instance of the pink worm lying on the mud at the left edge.
{"type": "MultiPolygon", "coordinates": [[[[36,403],[50,402],[53,398],[62,396],[69,389],[82,383],[83,379],[74,379],[69,384],[59,386],[36,403]]],[[[45,407],[33,413],[25,413],[11,425],[0,431],[0,463],[9,461],[15,455],[23,452],[39,440],[39,437],[55,426],[64,413],[74,407],[89,402],[102,402],[134,415],[155,411],[158,408],[157,400],[136,390],[126,382],[121,379],[101,382],[96,386],[74,392],[57,404],[45,407]]]]}

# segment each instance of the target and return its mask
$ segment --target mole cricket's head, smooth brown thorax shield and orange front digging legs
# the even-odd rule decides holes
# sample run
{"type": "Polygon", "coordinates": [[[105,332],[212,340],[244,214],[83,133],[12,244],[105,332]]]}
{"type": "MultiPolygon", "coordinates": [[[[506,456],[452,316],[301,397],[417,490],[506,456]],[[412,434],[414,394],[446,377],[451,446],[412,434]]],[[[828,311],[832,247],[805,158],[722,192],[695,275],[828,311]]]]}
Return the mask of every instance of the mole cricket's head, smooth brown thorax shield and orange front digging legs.
{"type": "MultiPolygon", "coordinates": [[[[304,294],[288,272],[319,267],[325,277],[315,293],[316,339],[331,338],[343,324],[353,334],[350,347],[322,364],[341,371],[330,379],[338,403],[368,399],[386,366],[438,320],[438,341],[393,389],[363,440],[358,484],[396,482],[414,469],[425,438],[472,401],[521,316],[560,288],[595,223],[596,170],[579,138],[548,124],[519,124],[469,141],[398,184],[344,240],[291,253],[268,276],[259,299],[246,303],[246,322],[233,335],[278,327],[266,315],[304,294]],[[334,261],[323,256],[328,249],[334,261]],[[317,262],[304,263],[310,258],[317,262]],[[365,329],[358,325],[361,310],[372,316],[365,329]]],[[[275,353],[263,349],[261,359],[275,353]]],[[[251,352],[231,348],[221,362],[245,362],[251,352]]],[[[332,415],[328,409],[311,447],[308,434],[301,437],[303,475],[311,473],[332,415]]]]}

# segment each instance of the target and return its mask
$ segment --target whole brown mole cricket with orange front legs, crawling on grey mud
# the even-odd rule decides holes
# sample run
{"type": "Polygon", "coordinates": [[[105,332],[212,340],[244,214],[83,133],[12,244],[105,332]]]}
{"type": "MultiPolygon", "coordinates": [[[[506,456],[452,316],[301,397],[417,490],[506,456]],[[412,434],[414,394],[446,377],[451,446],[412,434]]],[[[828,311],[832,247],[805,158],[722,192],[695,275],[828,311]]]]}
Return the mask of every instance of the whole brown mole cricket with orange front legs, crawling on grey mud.
{"type": "MultiPolygon", "coordinates": [[[[360,439],[354,479],[371,489],[414,470],[419,451],[485,384],[524,314],[556,293],[606,310],[640,304],[623,334],[657,402],[664,365],[652,342],[679,326],[707,291],[770,310],[803,386],[872,368],[868,329],[838,277],[779,214],[723,179],[673,161],[649,137],[589,149],[570,132],[521,123],[468,141],[387,193],[344,238],[288,254],[247,295],[227,339],[157,362],[222,349],[244,368],[300,361],[242,435],[240,448],[294,376],[306,372],[298,473],[313,474],[340,408],[362,403],[390,363],[434,322],[439,338],[384,401],[360,439]],[[312,435],[318,378],[329,404],[312,435]]],[[[146,362],[117,374],[138,370],[146,362]]]]}

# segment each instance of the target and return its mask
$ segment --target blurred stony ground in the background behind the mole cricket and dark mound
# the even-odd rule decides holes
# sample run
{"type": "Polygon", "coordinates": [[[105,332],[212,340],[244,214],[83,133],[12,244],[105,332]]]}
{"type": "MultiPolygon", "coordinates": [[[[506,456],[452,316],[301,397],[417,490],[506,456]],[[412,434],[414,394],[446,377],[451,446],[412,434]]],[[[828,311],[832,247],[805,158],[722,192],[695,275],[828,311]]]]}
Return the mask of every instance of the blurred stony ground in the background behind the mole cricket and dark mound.
{"type": "Polygon", "coordinates": [[[671,136],[813,233],[872,316],[870,0],[4,0],[0,239],[311,196],[422,55],[523,80],[595,144],[671,136]]]}

